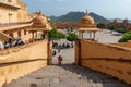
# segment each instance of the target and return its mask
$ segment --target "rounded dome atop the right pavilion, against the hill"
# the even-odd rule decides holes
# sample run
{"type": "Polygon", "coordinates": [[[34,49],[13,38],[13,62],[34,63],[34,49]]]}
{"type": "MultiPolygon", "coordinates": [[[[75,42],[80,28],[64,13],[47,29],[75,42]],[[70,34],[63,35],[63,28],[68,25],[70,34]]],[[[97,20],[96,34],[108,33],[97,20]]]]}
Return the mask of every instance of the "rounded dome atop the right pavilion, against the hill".
{"type": "Polygon", "coordinates": [[[88,14],[85,14],[85,16],[82,17],[81,20],[81,24],[85,24],[85,25],[94,25],[94,18],[91,17],[88,14]]]}

